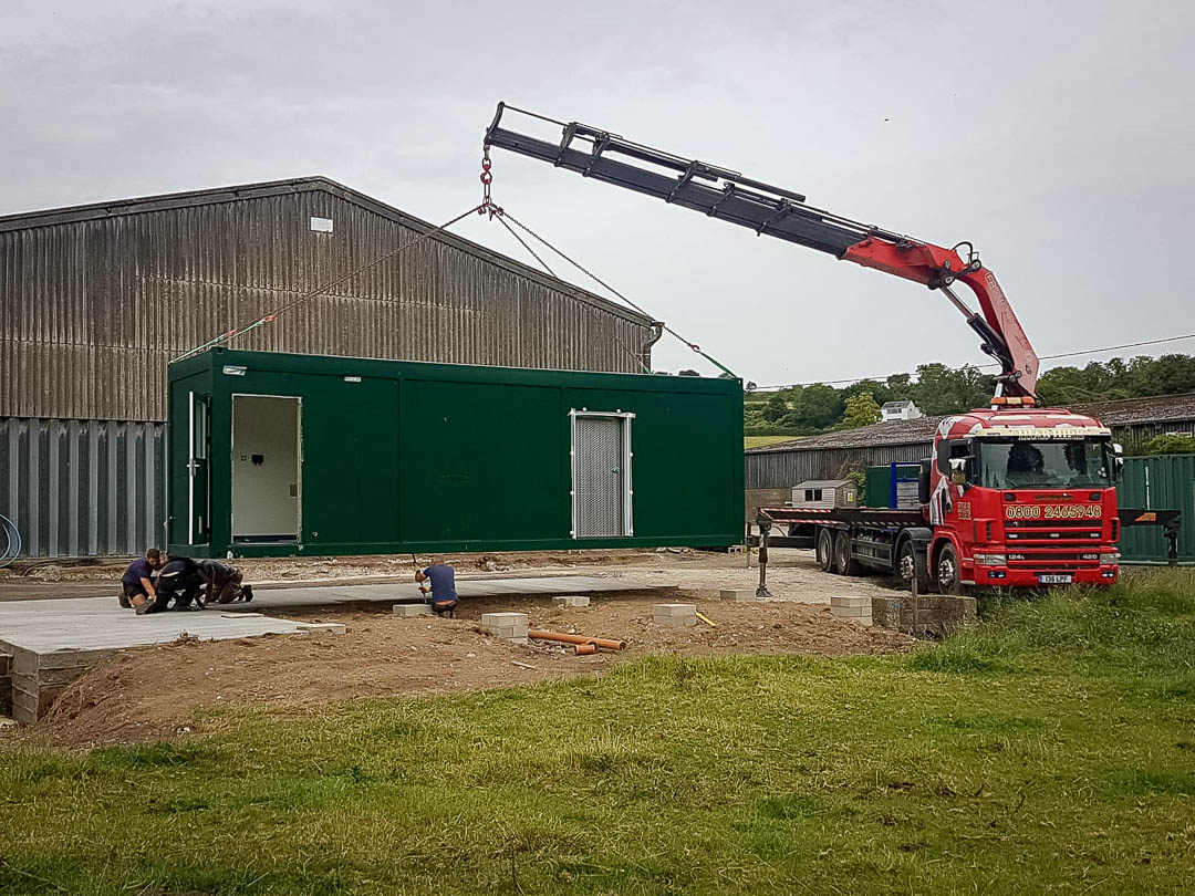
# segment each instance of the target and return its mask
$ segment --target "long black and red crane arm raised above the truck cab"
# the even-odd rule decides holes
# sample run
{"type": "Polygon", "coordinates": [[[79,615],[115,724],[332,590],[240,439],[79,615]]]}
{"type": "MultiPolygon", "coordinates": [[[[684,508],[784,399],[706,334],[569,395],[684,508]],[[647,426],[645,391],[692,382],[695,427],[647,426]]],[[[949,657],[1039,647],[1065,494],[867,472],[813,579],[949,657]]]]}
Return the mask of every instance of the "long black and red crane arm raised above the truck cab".
{"type": "Polygon", "coordinates": [[[485,146],[498,147],[583,177],[602,180],[667,203],[701,211],[756,235],[768,235],[827,252],[835,258],[940,289],[980,336],[985,352],[1001,367],[998,380],[1007,395],[1034,398],[1037,355],[1009,305],[995,275],[967,246],[944,248],[893,231],[864,225],[809,205],[801,194],[743,177],[737,171],[684,159],[577,122],[564,123],[498,104],[485,131],[485,146]],[[505,111],[563,128],[558,142],[502,127],[505,111]],[[979,300],[972,311],[951,289],[966,283],[979,300]]]}

